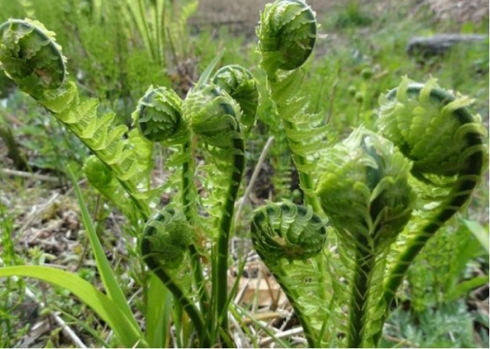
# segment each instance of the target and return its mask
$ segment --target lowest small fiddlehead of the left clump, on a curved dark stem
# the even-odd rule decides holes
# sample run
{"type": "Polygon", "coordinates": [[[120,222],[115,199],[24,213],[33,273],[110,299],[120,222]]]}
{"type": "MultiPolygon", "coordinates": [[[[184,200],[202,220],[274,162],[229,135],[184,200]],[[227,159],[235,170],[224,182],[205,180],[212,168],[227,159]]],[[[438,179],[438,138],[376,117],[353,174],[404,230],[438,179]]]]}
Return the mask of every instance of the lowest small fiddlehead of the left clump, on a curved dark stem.
{"type": "Polygon", "coordinates": [[[209,338],[202,314],[175,282],[177,276],[173,275],[173,270],[182,264],[192,241],[192,229],[185,215],[173,208],[165,208],[146,222],[141,239],[141,255],[148,268],[160,278],[187,312],[202,339],[202,345],[208,345],[209,338]]]}

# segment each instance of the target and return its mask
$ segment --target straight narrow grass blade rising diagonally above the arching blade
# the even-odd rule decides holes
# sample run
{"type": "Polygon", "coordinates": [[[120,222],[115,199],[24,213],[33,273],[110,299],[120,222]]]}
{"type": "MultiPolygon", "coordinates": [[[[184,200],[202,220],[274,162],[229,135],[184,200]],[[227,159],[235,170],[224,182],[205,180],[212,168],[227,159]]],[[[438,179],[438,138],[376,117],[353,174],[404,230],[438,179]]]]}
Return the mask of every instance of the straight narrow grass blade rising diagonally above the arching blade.
{"type": "Polygon", "coordinates": [[[124,317],[126,317],[128,321],[130,321],[132,327],[134,327],[134,329],[139,329],[138,323],[136,322],[131,308],[127,303],[126,297],[124,297],[124,292],[122,292],[122,288],[117,282],[117,278],[114,271],[112,270],[112,267],[110,266],[109,261],[107,260],[107,256],[105,256],[104,249],[102,247],[102,244],[100,244],[97,232],[95,231],[91,215],[88,213],[88,208],[85,201],[83,200],[83,195],[81,193],[80,187],[78,187],[78,183],[70,167],[68,167],[68,173],[71,182],[74,185],[76,197],[78,199],[78,206],[80,206],[83,226],[85,227],[88,235],[88,240],[90,241],[92,247],[93,255],[95,256],[95,264],[97,264],[97,270],[100,273],[100,279],[102,280],[105,287],[105,292],[107,292],[107,296],[113,302],[115,302],[115,304],[117,304],[117,307],[121,309],[124,317]]]}

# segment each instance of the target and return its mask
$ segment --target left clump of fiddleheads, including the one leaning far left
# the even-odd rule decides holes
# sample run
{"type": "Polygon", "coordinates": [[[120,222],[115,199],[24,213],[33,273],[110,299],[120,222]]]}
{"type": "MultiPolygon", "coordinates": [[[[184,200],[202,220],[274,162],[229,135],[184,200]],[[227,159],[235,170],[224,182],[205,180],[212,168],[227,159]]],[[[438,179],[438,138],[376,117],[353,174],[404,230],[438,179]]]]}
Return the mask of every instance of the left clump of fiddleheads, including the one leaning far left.
{"type": "MultiPolygon", "coordinates": [[[[142,259],[158,277],[150,282],[160,280],[173,294],[175,316],[184,319],[183,311],[190,319],[187,337],[197,341],[185,339],[183,345],[233,345],[228,333],[228,306],[233,296],[228,295],[228,242],[245,170],[245,138],[255,124],[259,101],[255,78],[240,66],[223,67],[210,77],[217,58],[185,100],[168,88],[148,88],[133,114],[137,127],[128,132],[126,126],[113,125],[113,113],[98,116],[98,100],[81,100],[76,85],[64,81],[66,59],[54,33],[41,23],[9,20],[0,25],[0,35],[1,68],[93,151],[84,166],[89,181],[141,232],[136,238],[142,259]],[[174,173],[168,183],[153,189],[150,172],[157,142],[175,150],[165,164],[174,173]],[[211,160],[211,165],[199,168],[209,171],[206,180],[212,190],[207,200],[198,197],[194,182],[194,154],[199,145],[204,145],[205,158],[211,160]],[[165,188],[175,195],[168,207],[156,210],[157,195],[165,188]],[[198,209],[204,214],[198,214],[198,209]],[[202,237],[205,233],[209,235],[202,237]],[[208,241],[213,245],[210,279],[202,267],[203,240],[204,245],[208,241]],[[188,259],[190,268],[184,263],[188,259]],[[189,269],[191,280],[185,278],[189,269]]],[[[165,316],[162,307],[157,307],[159,316],[165,316]]],[[[133,321],[129,307],[124,312],[133,321]]],[[[148,314],[154,317],[155,312],[148,314]]],[[[161,321],[156,319],[155,324],[161,321]]],[[[124,337],[125,346],[134,345],[133,338],[142,336],[141,329],[133,330],[124,337]]],[[[148,336],[154,332],[148,331],[148,336]]],[[[149,344],[160,345],[154,338],[149,338],[149,344]]],[[[139,344],[148,345],[148,341],[141,338],[139,344]]]]}

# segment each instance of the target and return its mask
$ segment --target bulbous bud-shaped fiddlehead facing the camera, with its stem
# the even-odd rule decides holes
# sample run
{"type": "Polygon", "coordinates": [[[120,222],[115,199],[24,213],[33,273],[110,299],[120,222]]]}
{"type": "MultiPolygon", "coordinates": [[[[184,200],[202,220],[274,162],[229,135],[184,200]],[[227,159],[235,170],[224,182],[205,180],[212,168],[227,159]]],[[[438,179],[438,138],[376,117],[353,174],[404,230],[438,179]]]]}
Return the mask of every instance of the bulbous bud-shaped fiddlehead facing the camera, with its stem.
{"type": "Polygon", "coordinates": [[[373,345],[382,311],[383,263],[392,242],[412,215],[409,186],[412,165],[404,155],[371,131],[357,129],[325,153],[317,184],[322,208],[335,227],[351,278],[348,348],[373,345]],[[354,255],[354,261],[346,256],[354,255]],[[376,314],[378,316],[376,317],[376,314]],[[371,326],[370,326],[371,325],[371,326]]]}

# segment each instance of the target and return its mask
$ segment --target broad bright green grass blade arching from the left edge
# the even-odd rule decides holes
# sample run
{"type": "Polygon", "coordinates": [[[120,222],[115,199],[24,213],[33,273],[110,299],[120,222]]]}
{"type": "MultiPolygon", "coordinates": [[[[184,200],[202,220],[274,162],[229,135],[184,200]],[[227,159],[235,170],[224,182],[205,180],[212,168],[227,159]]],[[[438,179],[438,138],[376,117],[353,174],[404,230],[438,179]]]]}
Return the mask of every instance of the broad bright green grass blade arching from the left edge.
{"type": "Polygon", "coordinates": [[[49,266],[6,266],[0,268],[0,278],[8,276],[35,278],[66,288],[88,307],[91,307],[100,319],[107,323],[124,347],[148,348],[139,328],[133,326],[132,321],[126,317],[119,305],[76,274],[49,266]]]}

